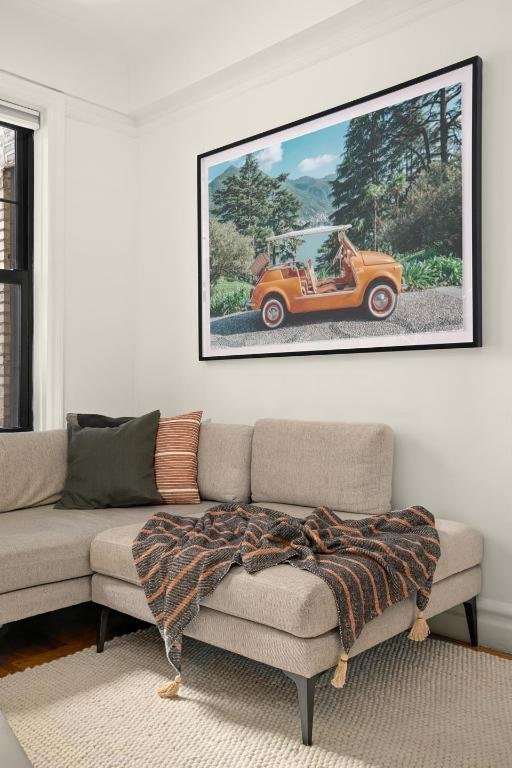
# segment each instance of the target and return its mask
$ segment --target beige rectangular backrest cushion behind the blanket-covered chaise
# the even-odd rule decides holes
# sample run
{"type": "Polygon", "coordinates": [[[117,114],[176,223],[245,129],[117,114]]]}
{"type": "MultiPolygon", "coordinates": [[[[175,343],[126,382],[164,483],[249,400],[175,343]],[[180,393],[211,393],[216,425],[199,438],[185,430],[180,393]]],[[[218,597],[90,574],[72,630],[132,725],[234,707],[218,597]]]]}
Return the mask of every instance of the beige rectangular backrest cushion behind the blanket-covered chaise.
{"type": "Polygon", "coordinates": [[[252,500],[389,512],[393,433],[384,424],[262,419],[252,441],[252,500]]]}

